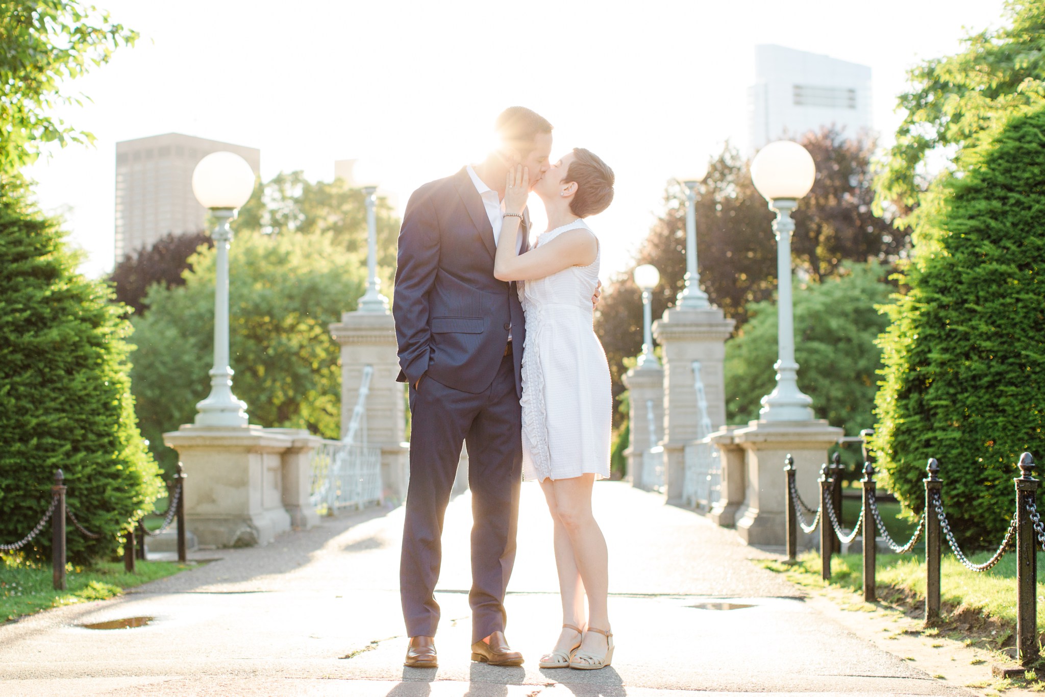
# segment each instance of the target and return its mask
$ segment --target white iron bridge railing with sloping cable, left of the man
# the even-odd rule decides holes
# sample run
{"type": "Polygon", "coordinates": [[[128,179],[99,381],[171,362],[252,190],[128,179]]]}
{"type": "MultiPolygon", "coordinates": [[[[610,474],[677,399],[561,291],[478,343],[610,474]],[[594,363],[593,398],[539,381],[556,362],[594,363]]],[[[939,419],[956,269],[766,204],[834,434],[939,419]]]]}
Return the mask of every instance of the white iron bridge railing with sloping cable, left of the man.
{"type": "Polygon", "coordinates": [[[367,395],[373,373],[372,366],[364,366],[345,438],[324,440],[312,451],[310,501],[320,513],[333,515],[341,509],[362,510],[381,503],[381,449],[367,445],[367,395]],[[356,443],[361,434],[363,442],[356,443]]]}

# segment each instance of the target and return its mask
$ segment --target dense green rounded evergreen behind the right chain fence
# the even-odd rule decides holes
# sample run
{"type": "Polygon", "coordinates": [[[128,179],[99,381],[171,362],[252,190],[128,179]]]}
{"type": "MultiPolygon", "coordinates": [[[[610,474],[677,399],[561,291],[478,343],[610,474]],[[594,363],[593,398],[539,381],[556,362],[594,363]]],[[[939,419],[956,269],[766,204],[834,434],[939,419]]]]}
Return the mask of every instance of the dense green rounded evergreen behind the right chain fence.
{"type": "Polygon", "coordinates": [[[1013,512],[1020,452],[1045,452],[1045,109],[1022,101],[921,198],[876,399],[875,446],[898,498],[924,508],[936,458],[959,541],[989,548],[1013,512]]]}

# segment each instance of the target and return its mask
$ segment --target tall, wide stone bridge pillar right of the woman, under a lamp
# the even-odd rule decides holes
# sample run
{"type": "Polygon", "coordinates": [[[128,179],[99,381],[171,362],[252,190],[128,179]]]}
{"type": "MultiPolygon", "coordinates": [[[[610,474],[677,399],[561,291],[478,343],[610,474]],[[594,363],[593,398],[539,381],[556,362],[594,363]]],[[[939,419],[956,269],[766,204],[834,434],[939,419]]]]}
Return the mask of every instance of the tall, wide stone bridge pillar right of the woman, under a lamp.
{"type": "Polygon", "coordinates": [[[717,307],[668,308],[653,324],[653,335],[664,356],[664,457],[669,502],[682,499],[686,477],[686,444],[700,434],[693,362],[700,362],[700,375],[713,428],[725,425],[725,340],[735,322],[717,307]]]}

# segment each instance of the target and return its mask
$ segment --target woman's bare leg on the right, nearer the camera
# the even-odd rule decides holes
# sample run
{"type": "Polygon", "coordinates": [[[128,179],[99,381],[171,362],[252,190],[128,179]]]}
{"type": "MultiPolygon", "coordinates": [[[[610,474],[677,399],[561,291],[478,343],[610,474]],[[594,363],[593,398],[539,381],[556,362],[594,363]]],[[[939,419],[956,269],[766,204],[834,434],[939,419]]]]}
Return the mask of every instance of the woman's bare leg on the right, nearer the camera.
{"type": "MultiPolygon", "coordinates": [[[[591,487],[595,474],[582,474],[552,482],[558,519],[573,549],[573,559],[587,596],[587,626],[609,630],[606,597],[609,587],[609,556],[606,538],[591,514],[591,487]]],[[[606,637],[596,632],[584,634],[581,650],[601,655],[606,637]]]]}

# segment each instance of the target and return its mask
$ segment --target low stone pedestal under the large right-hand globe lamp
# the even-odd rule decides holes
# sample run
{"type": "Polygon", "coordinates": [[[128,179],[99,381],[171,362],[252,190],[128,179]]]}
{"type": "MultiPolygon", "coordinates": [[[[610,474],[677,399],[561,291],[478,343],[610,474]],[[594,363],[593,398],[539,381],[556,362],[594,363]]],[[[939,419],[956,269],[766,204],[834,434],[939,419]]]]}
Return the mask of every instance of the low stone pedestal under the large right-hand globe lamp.
{"type": "MultiPolygon", "coordinates": [[[[812,508],[819,501],[816,482],[828,448],[842,437],[842,429],[827,421],[751,421],[732,434],[733,443],[744,452],[746,491],[737,510],[737,532],[748,544],[784,545],[787,530],[784,507],[784,465],[788,455],[797,468],[798,494],[812,508]]],[[[830,525],[830,524],[829,524],[830,525]]],[[[814,541],[799,533],[799,547],[814,541]],[[805,540],[806,544],[803,544],[805,540]]]]}

